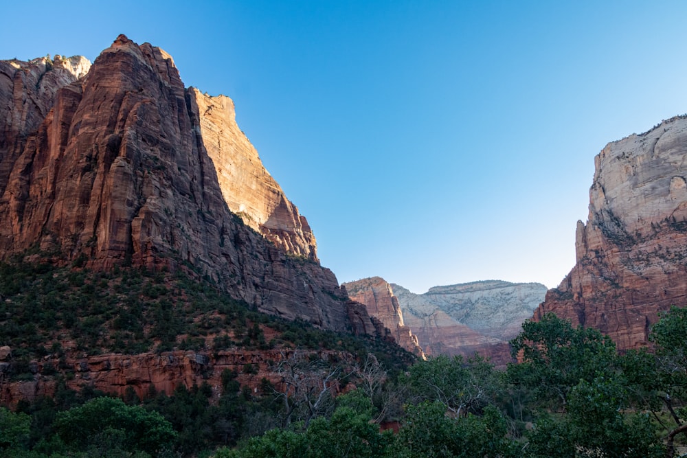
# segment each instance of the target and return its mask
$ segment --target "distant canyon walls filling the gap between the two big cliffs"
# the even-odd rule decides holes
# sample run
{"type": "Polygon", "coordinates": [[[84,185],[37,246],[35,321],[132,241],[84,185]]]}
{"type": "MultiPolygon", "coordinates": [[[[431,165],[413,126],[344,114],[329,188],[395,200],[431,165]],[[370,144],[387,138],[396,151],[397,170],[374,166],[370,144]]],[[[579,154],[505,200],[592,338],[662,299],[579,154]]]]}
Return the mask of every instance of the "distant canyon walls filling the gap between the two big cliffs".
{"type": "Polygon", "coordinates": [[[436,286],[418,295],[380,277],[342,286],[408,350],[407,330],[427,355],[469,358],[478,353],[497,365],[510,361],[508,341],[519,334],[546,292],[536,283],[488,281],[436,286]]]}

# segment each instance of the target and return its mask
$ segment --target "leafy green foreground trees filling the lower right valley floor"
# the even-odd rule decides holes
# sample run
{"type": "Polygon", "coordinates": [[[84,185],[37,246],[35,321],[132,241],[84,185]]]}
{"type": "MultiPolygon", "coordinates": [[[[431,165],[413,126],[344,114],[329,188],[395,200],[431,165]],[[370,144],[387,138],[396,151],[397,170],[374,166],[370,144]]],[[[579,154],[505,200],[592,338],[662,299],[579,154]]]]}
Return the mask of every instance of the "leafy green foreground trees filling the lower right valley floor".
{"type": "Polygon", "coordinates": [[[481,358],[438,356],[381,388],[402,393],[394,435],[366,426],[398,398],[359,388],[324,420],[275,429],[216,456],[672,457],[675,438],[687,431],[685,335],[687,310],[675,308],[653,328],[655,351],[618,355],[596,330],[548,315],[525,323],[511,342],[519,363],[506,371],[481,358]]]}

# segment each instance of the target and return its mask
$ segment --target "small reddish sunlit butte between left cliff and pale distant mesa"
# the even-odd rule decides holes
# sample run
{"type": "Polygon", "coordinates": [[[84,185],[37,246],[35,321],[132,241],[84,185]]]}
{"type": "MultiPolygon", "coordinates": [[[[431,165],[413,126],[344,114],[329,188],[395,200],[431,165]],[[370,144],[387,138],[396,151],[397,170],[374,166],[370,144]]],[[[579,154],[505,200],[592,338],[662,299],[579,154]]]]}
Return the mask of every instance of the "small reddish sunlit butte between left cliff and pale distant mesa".
{"type": "Polygon", "coordinates": [[[368,313],[381,321],[390,330],[398,345],[409,352],[425,358],[418,338],[403,323],[403,312],[398,306],[398,299],[392,292],[391,285],[381,277],[372,277],[341,284],[354,301],[365,304],[368,313]]]}

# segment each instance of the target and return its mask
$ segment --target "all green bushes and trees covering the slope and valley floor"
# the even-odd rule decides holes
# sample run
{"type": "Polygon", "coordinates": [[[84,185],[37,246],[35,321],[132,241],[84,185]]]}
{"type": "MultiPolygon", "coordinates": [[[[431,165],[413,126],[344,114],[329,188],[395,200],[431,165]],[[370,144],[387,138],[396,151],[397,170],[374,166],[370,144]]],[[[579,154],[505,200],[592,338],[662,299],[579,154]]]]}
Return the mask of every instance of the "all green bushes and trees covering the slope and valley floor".
{"type": "Polygon", "coordinates": [[[651,349],[622,355],[596,330],[552,315],[526,322],[511,341],[518,363],[497,370],[479,357],[412,363],[386,341],[269,317],[164,272],[4,264],[0,296],[19,380],[33,377],[36,358],[71,351],[56,345],[64,334],[90,353],[297,349],[271,365],[280,387],[242,387],[238,377],[256,372],[246,365],[225,370],[221,387],[142,398],[76,393],[69,368],[43,365],[57,391],[0,409],[0,457],[631,458],[673,457],[685,442],[687,309],[662,316],[651,349]],[[308,351],[322,348],[348,356],[308,351]]]}

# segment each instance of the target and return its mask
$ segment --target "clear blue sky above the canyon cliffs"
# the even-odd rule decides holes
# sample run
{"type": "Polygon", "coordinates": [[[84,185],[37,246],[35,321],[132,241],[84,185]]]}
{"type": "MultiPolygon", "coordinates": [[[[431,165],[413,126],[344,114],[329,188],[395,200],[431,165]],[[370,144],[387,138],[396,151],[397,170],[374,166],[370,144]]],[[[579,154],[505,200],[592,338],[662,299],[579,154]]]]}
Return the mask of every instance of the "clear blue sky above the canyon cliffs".
{"type": "Polygon", "coordinates": [[[687,1],[3,1],[0,58],[120,33],[237,121],[340,282],[575,263],[594,155],[687,113],[687,1]]]}

